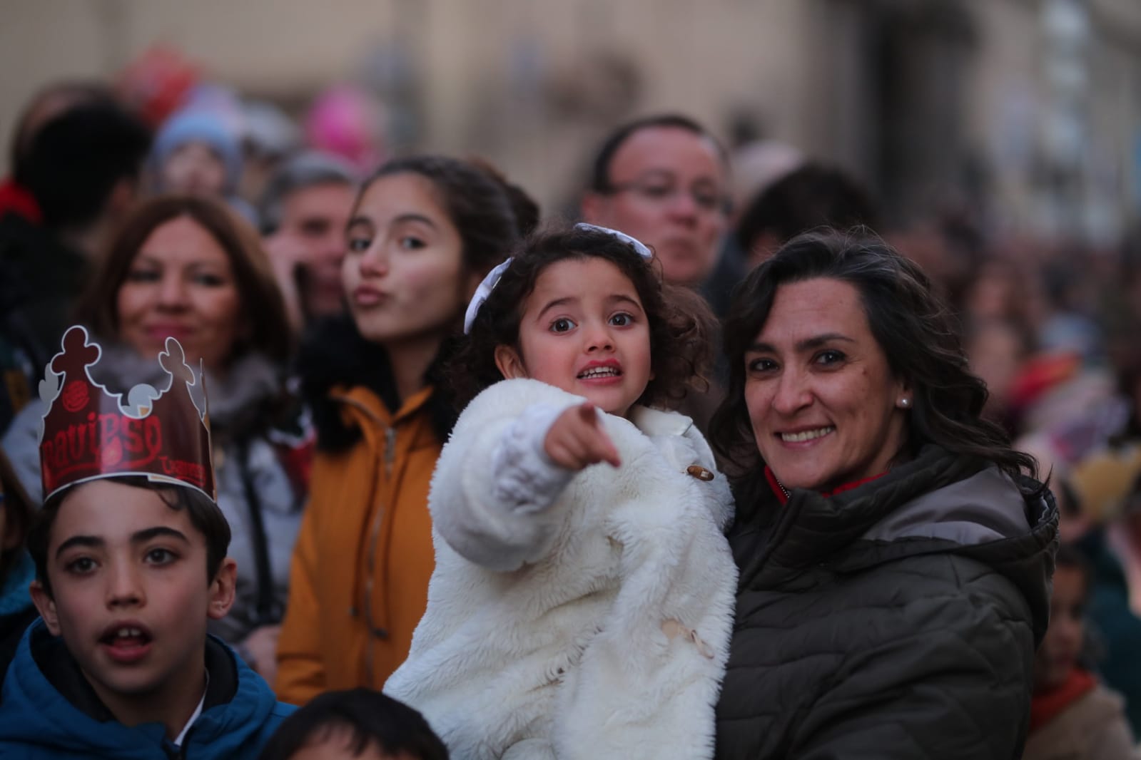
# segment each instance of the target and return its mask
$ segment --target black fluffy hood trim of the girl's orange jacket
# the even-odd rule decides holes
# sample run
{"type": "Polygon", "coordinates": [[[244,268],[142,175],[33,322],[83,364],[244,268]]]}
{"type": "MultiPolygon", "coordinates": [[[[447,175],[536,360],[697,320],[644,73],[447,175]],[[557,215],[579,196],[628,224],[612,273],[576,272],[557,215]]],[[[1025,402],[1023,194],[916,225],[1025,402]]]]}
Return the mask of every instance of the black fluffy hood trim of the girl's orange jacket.
{"type": "MultiPolygon", "coordinates": [[[[436,359],[428,368],[424,381],[435,392],[428,399],[432,431],[446,441],[459,416],[444,383],[444,365],[451,356],[454,341],[445,340],[436,359]]],[[[317,428],[317,448],[322,451],[343,451],[358,440],[361,430],[341,416],[341,403],[330,398],[338,386],[364,386],[375,393],[390,412],[400,407],[388,352],[383,346],[365,340],[348,314],[318,322],[301,342],[298,357],[301,393],[313,410],[317,428]]]]}

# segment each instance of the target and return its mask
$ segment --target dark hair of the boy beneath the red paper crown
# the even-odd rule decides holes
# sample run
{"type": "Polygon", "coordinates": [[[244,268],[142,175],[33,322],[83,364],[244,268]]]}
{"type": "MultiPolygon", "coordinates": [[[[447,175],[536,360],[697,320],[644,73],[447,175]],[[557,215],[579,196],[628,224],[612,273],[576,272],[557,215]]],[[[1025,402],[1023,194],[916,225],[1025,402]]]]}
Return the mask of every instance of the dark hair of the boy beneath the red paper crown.
{"type": "MultiPolygon", "coordinates": [[[[221,509],[208,496],[191,488],[181,485],[170,485],[168,483],[155,483],[140,475],[130,475],[112,479],[116,483],[130,485],[132,488],[144,488],[148,491],[156,491],[159,497],[168,507],[175,509],[186,509],[191,524],[194,525],[207,539],[207,583],[213,581],[221,567],[226,551],[229,549],[229,523],[221,509]]],[[[73,485],[64,491],[54,493],[44,501],[43,508],[35,515],[32,530],[27,534],[27,553],[32,555],[35,563],[35,580],[40,581],[48,596],[52,596],[51,581],[48,578],[48,545],[51,541],[51,526],[59,514],[59,507],[67,497],[83,487],[83,483],[73,485]]]]}

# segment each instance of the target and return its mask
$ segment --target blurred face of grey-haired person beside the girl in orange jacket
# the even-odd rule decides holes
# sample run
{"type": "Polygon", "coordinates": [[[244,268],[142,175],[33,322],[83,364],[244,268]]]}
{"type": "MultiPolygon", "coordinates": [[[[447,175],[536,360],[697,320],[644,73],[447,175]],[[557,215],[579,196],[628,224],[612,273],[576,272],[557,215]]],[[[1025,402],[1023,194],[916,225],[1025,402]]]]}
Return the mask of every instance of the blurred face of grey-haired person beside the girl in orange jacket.
{"type": "Polygon", "coordinates": [[[324,182],[294,190],[282,203],[280,231],[306,252],[301,299],[310,319],[338,314],[345,308],[341,260],[354,194],[349,185],[324,182]]]}

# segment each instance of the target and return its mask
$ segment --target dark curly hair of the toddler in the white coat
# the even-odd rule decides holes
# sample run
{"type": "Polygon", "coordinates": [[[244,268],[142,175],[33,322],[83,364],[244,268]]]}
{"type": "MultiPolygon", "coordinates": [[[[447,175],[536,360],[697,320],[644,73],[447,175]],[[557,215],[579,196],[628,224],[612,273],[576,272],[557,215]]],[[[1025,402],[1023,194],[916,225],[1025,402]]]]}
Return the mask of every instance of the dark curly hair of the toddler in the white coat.
{"type": "Polygon", "coordinates": [[[459,408],[503,379],[495,366],[495,346],[518,350],[519,322],[539,276],[556,262],[591,256],[609,261],[633,283],[649,321],[654,379],[637,403],[669,408],[685,398],[687,386],[707,387],[704,375],[712,360],[715,324],[701,296],[663,283],[661,272],[629,243],[600,230],[559,226],[524,240],[479,308],[447,373],[459,408]]]}

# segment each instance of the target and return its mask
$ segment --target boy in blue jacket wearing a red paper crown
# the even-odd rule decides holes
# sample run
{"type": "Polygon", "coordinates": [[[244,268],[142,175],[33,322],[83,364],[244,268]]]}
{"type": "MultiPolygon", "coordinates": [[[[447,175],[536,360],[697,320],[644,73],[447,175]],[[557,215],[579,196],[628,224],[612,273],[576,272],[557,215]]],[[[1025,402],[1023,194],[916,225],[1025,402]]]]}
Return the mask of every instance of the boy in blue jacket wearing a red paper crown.
{"type": "Polygon", "coordinates": [[[81,327],[40,383],[43,509],[29,537],[42,620],[0,693],[0,755],[256,758],[293,708],[207,621],[234,600],[205,394],[173,338],[163,391],[126,402],[81,327]],[[197,393],[197,397],[194,394],[197,393]]]}

